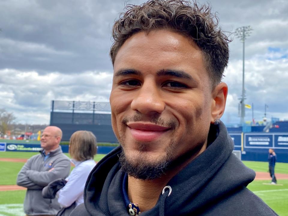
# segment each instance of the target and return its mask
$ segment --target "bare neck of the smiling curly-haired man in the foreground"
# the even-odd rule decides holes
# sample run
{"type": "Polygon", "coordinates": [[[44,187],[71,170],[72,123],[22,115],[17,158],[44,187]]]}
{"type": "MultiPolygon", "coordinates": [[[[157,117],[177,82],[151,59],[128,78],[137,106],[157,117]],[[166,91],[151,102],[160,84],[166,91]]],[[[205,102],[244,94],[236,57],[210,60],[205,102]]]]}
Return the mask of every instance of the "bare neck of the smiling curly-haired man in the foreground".
{"type": "Polygon", "coordinates": [[[183,163],[178,164],[178,166],[173,166],[171,170],[168,170],[165,175],[160,178],[142,180],[128,176],[128,197],[130,202],[137,203],[141,212],[153,208],[156,205],[159,196],[162,194],[163,188],[167,185],[170,179],[172,179],[198,155],[204,152],[206,146],[207,144],[205,143],[196,154],[183,163]]]}

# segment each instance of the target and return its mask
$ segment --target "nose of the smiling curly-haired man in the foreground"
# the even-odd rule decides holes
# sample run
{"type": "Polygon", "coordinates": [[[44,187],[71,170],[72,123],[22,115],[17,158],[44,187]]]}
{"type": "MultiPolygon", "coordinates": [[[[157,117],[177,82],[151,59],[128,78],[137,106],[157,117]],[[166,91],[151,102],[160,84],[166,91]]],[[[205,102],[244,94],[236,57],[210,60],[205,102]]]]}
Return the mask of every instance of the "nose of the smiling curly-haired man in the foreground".
{"type": "Polygon", "coordinates": [[[144,82],[131,103],[131,109],[143,114],[162,113],[165,108],[161,88],[153,82],[144,82]]]}

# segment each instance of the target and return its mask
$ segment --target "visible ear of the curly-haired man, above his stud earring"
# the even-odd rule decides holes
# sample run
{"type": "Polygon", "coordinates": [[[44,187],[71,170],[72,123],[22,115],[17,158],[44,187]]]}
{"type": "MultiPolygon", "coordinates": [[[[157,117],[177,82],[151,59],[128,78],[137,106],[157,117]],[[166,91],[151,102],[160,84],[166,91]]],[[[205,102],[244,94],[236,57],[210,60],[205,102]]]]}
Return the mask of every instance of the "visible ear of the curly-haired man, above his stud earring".
{"type": "Polygon", "coordinates": [[[227,94],[228,86],[225,82],[220,82],[212,91],[211,124],[214,124],[215,119],[220,119],[223,115],[227,94]]]}

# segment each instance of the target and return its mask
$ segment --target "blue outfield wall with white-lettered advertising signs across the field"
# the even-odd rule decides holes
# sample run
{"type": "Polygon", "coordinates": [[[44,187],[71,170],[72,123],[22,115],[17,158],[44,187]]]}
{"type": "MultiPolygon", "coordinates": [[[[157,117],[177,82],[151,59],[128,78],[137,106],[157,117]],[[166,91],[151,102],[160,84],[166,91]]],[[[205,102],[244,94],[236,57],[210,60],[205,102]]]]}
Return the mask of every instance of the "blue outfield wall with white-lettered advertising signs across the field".
{"type": "MultiPolygon", "coordinates": [[[[234,153],[243,161],[267,161],[268,149],[274,149],[277,162],[288,163],[288,133],[229,134],[234,142],[234,153]]],[[[98,146],[99,154],[107,154],[114,146],[98,146]]],[[[35,152],[40,144],[0,143],[0,151],[35,152]]],[[[62,145],[63,152],[68,146],[62,145]]]]}

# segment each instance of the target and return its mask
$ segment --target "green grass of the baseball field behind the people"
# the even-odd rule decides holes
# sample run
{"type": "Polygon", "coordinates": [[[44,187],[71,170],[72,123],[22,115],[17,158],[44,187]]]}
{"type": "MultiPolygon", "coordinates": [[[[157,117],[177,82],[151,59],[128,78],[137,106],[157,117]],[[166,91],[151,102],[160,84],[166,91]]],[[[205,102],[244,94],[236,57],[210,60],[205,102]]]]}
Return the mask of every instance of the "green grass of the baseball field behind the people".
{"type": "MultiPolygon", "coordinates": [[[[37,152],[0,152],[0,158],[30,158],[32,155],[38,154],[37,152]]],[[[69,154],[66,154],[69,156],[69,154]]],[[[100,161],[105,155],[96,155],[94,160],[100,161]]],[[[256,161],[243,161],[243,163],[251,169],[258,172],[267,172],[267,162],[256,161]]],[[[0,161],[0,185],[1,184],[15,184],[16,176],[24,163],[15,162],[3,162],[0,161]],[[4,178],[2,177],[4,176],[4,178]]],[[[288,163],[276,163],[275,173],[288,174],[288,163]]],[[[268,206],[270,206],[277,214],[281,216],[288,216],[288,180],[278,179],[277,183],[283,184],[283,186],[277,185],[264,185],[263,182],[270,181],[253,181],[248,185],[248,188],[259,196],[268,206]],[[271,191],[269,191],[271,190],[271,191]]],[[[19,191],[0,191],[0,204],[12,204],[23,203],[25,197],[25,190],[19,191]]],[[[9,206],[8,206],[9,207],[9,206]]],[[[7,206],[5,208],[8,208],[7,206]]],[[[13,207],[13,206],[12,206],[13,207]]],[[[12,208],[9,207],[9,208],[12,208]]],[[[19,207],[15,207],[19,208],[19,207]]],[[[4,214],[0,215],[16,216],[18,214],[4,214]]]]}

